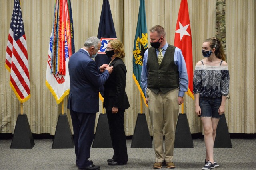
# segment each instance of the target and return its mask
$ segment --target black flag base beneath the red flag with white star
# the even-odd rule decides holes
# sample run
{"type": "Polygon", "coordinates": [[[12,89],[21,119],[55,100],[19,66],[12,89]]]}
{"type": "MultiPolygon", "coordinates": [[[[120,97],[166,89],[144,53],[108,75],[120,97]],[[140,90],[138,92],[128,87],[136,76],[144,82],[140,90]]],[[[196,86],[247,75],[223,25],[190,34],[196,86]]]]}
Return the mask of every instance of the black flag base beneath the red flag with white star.
{"type": "Polygon", "coordinates": [[[175,132],[175,142],[174,148],[193,148],[192,136],[190,133],[190,128],[188,125],[188,118],[186,113],[179,114],[176,132],[175,132]]]}

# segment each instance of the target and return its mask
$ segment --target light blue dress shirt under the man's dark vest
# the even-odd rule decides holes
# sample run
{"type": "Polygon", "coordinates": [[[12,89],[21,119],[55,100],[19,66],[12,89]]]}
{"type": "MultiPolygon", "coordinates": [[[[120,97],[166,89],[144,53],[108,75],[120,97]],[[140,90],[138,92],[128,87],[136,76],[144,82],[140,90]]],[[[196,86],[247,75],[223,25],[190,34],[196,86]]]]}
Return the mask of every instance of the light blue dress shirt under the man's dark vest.
{"type": "MultiPolygon", "coordinates": [[[[163,56],[166,52],[167,47],[168,47],[168,43],[166,43],[164,47],[162,47],[163,56]]],[[[158,56],[158,53],[159,51],[158,49],[156,49],[157,56],[158,56]]],[[[148,49],[145,51],[145,54],[144,54],[143,65],[141,70],[141,80],[140,80],[145,97],[147,97],[146,89],[148,86],[147,61],[148,61],[148,49]]],[[[178,67],[178,72],[180,77],[179,96],[183,97],[184,93],[188,91],[188,73],[187,73],[187,67],[186,67],[186,63],[182,55],[182,52],[177,47],[175,48],[175,52],[174,52],[174,63],[178,67]]]]}

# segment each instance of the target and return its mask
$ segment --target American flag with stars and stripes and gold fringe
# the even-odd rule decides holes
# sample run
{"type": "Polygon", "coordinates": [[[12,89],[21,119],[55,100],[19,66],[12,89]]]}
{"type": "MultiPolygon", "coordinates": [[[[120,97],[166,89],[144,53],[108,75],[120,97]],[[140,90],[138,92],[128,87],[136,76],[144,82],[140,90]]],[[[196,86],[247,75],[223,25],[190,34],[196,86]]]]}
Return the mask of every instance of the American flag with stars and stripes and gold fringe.
{"type": "Polygon", "coordinates": [[[6,69],[10,71],[10,86],[23,103],[30,98],[28,52],[20,0],[14,0],[12,20],[6,48],[6,69]]]}

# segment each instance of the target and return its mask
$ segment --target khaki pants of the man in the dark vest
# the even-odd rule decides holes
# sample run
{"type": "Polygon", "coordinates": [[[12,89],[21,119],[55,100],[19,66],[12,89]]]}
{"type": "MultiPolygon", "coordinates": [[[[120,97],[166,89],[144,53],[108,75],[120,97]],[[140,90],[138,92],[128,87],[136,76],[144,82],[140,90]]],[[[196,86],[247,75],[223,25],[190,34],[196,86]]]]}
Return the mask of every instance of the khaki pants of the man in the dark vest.
{"type": "Polygon", "coordinates": [[[164,160],[166,162],[172,162],[175,129],[179,115],[179,89],[170,90],[166,94],[162,92],[155,94],[147,88],[146,93],[156,162],[163,162],[164,160]],[[163,129],[165,133],[163,133],[163,129]],[[165,136],[165,152],[163,136],[165,136]]]}

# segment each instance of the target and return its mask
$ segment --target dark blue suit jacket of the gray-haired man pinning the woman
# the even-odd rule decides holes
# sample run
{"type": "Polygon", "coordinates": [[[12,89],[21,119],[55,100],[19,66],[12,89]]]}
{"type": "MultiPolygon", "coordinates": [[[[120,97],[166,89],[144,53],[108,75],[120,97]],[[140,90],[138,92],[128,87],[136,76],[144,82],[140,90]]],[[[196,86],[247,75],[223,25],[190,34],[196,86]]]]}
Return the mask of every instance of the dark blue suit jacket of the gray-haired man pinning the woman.
{"type": "Polygon", "coordinates": [[[74,53],[68,62],[70,91],[68,109],[81,113],[99,111],[99,87],[109,77],[108,70],[100,73],[96,62],[84,49],[74,53]]]}

